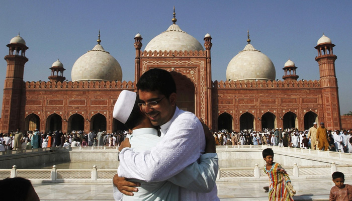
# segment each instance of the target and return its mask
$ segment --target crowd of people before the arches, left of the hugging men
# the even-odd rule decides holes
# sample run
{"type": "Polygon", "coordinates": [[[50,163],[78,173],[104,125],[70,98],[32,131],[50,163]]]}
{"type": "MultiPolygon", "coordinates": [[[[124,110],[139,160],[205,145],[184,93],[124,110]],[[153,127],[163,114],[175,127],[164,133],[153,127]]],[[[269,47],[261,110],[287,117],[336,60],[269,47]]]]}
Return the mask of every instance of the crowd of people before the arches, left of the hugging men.
{"type": "Polygon", "coordinates": [[[55,132],[39,132],[38,129],[20,132],[20,129],[10,133],[0,133],[0,151],[24,150],[47,147],[92,147],[92,146],[118,146],[130,133],[128,131],[116,131],[107,133],[91,130],[71,131],[62,133],[61,130],[55,132]]]}

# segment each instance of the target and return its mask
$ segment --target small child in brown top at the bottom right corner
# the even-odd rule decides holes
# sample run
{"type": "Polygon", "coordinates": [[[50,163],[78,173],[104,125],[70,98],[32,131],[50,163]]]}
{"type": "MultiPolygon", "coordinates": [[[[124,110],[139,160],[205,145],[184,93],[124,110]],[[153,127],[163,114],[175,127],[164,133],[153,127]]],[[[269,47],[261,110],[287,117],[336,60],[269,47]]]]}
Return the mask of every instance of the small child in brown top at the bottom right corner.
{"type": "Polygon", "coordinates": [[[352,186],[344,183],[342,172],[332,173],[332,181],[335,183],[330,190],[330,201],[352,201],[352,186]]]}

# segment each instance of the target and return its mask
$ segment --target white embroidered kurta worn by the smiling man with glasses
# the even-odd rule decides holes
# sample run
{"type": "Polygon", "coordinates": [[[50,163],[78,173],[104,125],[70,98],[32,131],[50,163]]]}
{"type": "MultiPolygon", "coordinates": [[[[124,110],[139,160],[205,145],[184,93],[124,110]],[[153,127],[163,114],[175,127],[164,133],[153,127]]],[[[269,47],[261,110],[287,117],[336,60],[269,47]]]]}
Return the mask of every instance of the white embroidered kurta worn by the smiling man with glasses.
{"type": "MultiPolygon", "coordinates": [[[[180,173],[204,153],[203,127],[194,114],[176,108],[172,119],[160,128],[162,140],[150,151],[138,153],[124,148],[120,152],[119,176],[147,182],[164,181],[180,173]]],[[[198,181],[189,179],[183,182],[198,181]]],[[[219,200],[216,185],[210,189],[209,193],[201,193],[180,187],[179,200],[219,200]]]]}

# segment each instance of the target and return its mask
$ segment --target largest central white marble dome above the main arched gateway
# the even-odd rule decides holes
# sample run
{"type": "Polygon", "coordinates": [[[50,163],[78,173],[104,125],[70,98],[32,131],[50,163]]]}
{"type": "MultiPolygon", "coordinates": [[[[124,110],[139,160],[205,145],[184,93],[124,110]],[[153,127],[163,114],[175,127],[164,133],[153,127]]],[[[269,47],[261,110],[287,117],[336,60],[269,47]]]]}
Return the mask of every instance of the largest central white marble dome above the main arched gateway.
{"type": "Polygon", "coordinates": [[[204,51],[204,48],[197,39],[195,39],[193,36],[189,35],[188,33],[182,31],[178,25],[172,24],[166,31],[162,32],[161,34],[153,38],[145,46],[144,50],[146,51],[149,51],[149,50],[151,51],[203,50],[204,51]]]}

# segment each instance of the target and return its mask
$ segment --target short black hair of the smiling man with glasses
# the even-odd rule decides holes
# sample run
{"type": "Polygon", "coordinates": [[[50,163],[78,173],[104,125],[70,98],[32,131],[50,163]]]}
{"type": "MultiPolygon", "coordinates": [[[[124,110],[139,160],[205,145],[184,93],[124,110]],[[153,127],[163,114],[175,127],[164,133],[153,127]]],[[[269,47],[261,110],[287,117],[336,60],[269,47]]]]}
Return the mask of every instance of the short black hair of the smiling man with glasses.
{"type": "Polygon", "coordinates": [[[176,93],[176,84],[169,72],[153,68],[146,71],[139,78],[137,89],[142,91],[158,91],[168,98],[171,93],[176,93]]]}

